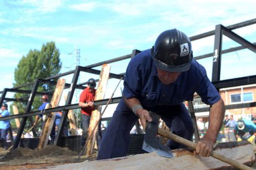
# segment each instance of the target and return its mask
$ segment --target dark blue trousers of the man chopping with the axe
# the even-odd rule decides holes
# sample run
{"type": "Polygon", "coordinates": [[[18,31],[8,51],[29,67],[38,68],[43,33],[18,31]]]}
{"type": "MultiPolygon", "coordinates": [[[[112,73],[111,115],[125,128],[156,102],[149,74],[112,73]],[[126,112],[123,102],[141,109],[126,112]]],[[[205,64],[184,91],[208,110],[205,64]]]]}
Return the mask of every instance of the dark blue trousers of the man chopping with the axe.
{"type": "MultiPolygon", "coordinates": [[[[164,123],[166,123],[174,134],[187,140],[192,140],[194,126],[183,103],[173,106],[156,106],[145,109],[160,115],[161,119],[163,119],[164,123]]],[[[126,156],[129,149],[130,130],[137,120],[138,116],[136,116],[129,107],[127,107],[124,100],[121,99],[101,140],[97,160],[126,156]]],[[[170,141],[169,147],[175,149],[185,146],[170,141]]]]}

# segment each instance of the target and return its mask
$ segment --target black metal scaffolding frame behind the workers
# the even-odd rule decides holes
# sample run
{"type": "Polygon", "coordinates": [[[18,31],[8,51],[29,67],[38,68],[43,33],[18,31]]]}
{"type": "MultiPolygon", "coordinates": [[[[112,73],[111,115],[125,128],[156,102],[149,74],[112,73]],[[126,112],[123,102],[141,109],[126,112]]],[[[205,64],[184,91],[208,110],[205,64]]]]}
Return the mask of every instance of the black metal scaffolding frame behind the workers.
{"type": "MultiPolygon", "coordinates": [[[[226,26],[226,27],[223,25],[216,25],[216,28],[213,31],[208,31],[207,33],[202,33],[202,34],[198,34],[197,36],[190,37],[191,41],[195,41],[197,39],[206,38],[208,36],[215,36],[213,54],[200,55],[200,56],[194,57],[194,59],[199,60],[199,59],[204,59],[206,57],[213,57],[213,73],[212,73],[211,81],[214,84],[214,86],[216,87],[216,89],[219,90],[220,88],[224,88],[224,87],[242,86],[242,85],[246,85],[246,84],[256,83],[256,75],[255,76],[245,76],[245,77],[241,77],[241,78],[225,79],[225,80],[220,81],[221,54],[238,51],[241,49],[250,49],[251,51],[256,52],[256,46],[255,46],[256,42],[254,42],[254,43],[249,42],[246,39],[244,39],[241,36],[234,33],[232,30],[237,29],[237,28],[242,28],[244,26],[253,25],[255,23],[256,23],[256,18],[252,19],[252,20],[248,20],[246,22],[241,22],[241,23],[237,23],[234,25],[226,26]],[[241,46],[233,47],[231,49],[222,51],[221,46],[222,46],[223,34],[225,36],[228,36],[229,38],[233,39],[234,41],[238,42],[239,44],[241,44],[241,46]]],[[[10,116],[0,118],[0,120],[22,118],[20,127],[17,132],[17,137],[15,138],[15,140],[13,142],[13,148],[17,148],[19,146],[20,137],[24,130],[25,123],[26,123],[27,119],[30,119],[30,121],[31,121],[31,116],[42,114],[41,111],[31,111],[31,107],[32,107],[32,103],[35,98],[35,95],[45,94],[45,92],[37,92],[39,83],[45,82],[45,83],[49,83],[49,84],[56,84],[56,81],[54,81],[53,79],[61,78],[62,76],[66,76],[66,75],[73,75],[71,84],[66,84],[66,86],[65,86],[65,89],[69,89],[69,93],[67,95],[67,100],[66,100],[65,105],[61,106],[61,107],[46,109],[45,112],[43,113],[43,114],[49,114],[54,111],[61,111],[61,110],[63,111],[61,122],[60,122],[59,128],[58,128],[58,132],[57,132],[56,138],[54,140],[54,145],[60,145],[61,144],[61,134],[62,134],[61,132],[64,129],[64,124],[67,119],[68,111],[72,110],[72,109],[80,108],[78,103],[71,104],[75,89],[84,89],[85,88],[85,86],[83,86],[83,85],[85,85],[86,82],[77,84],[77,80],[79,78],[80,71],[100,75],[100,70],[95,70],[93,68],[99,67],[103,64],[118,62],[118,61],[125,60],[125,59],[132,59],[132,57],[134,57],[139,52],[140,52],[139,50],[134,49],[132,51],[132,53],[128,54],[128,55],[117,57],[117,58],[111,59],[111,60],[105,60],[103,62],[88,65],[86,67],[77,66],[75,68],[75,70],[68,71],[66,73],[61,73],[59,75],[51,76],[51,77],[45,78],[45,79],[36,79],[36,81],[33,83],[23,84],[21,86],[17,86],[17,87],[13,87],[13,88],[5,88],[4,91],[1,91],[0,92],[0,94],[1,94],[0,104],[2,104],[2,102],[14,102],[14,101],[27,102],[27,107],[26,107],[25,113],[20,113],[19,115],[10,115],[10,116]],[[32,91],[22,90],[22,87],[32,86],[32,85],[33,85],[32,91]],[[7,98],[6,97],[7,92],[30,94],[30,97],[29,97],[29,99],[27,99],[27,98],[21,98],[21,99],[7,98]]],[[[121,78],[124,78],[124,75],[125,75],[125,73],[120,73],[120,74],[110,73],[109,78],[121,79],[121,78]]],[[[48,94],[53,95],[53,92],[49,91],[48,94]]],[[[106,105],[108,100],[109,99],[95,101],[95,105],[106,105]]],[[[111,100],[110,104],[118,103],[119,100],[121,100],[121,97],[113,98],[111,100]]],[[[255,107],[255,106],[256,106],[256,102],[251,102],[251,103],[241,103],[241,104],[236,104],[236,105],[226,105],[226,108],[232,109],[232,108],[244,108],[244,107],[255,107]]],[[[209,111],[209,108],[194,109],[195,113],[202,112],[202,111],[209,111]]]]}

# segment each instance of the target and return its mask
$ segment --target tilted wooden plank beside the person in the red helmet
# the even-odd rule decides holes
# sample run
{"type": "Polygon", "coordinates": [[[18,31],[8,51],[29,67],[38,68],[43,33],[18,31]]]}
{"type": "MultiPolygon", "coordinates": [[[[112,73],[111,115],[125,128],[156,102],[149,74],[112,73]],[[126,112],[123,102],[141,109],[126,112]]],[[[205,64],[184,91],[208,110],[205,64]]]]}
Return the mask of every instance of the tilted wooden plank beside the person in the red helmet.
{"type": "MultiPolygon", "coordinates": [[[[51,99],[51,107],[58,107],[59,100],[61,100],[61,94],[64,90],[66,80],[65,79],[58,79],[56,84],[56,88],[53,93],[53,98],[51,99]]],[[[45,127],[43,129],[43,134],[40,137],[40,141],[38,144],[38,148],[45,148],[48,145],[49,136],[51,134],[51,130],[53,129],[53,124],[55,121],[56,112],[49,113],[48,118],[46,119],[45,127]]],[[[54,127],[55,128],[55,127],[54,127]]]]}

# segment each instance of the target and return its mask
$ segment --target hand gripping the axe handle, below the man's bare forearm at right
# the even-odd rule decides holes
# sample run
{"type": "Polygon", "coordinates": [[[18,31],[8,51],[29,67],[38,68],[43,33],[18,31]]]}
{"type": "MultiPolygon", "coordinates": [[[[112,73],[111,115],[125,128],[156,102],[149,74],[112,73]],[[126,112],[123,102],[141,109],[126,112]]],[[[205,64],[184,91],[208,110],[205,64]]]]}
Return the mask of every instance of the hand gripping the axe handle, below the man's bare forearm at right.
{"type": "Polygon", "coordinates": [[[197,147],[195,148],[195,155],[209,157],[213,151],[213,145],[215,143],[212,140],[202,139],[198,141],[197,147]]]}

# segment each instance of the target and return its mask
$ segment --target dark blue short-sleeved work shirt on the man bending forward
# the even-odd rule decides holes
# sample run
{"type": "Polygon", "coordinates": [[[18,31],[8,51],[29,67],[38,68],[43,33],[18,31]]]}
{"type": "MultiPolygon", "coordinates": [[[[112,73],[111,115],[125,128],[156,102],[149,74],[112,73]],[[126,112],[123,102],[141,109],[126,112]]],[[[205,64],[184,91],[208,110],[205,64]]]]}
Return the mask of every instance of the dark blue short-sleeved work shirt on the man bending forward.
{"type": "Polygon", "coordinates": [[[157,75],[150,49],[140,52],[127,67],[124,97],[137,98],[145,107],[177,105],[193,100],[195,92],[208,105],[220,100],[220,94],[208,79],[205,68],[194,59],[190,69],[182,72],[174,83],[163,84],[157,75]]]}

